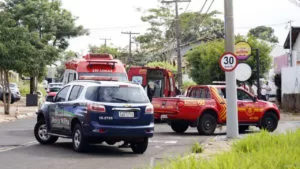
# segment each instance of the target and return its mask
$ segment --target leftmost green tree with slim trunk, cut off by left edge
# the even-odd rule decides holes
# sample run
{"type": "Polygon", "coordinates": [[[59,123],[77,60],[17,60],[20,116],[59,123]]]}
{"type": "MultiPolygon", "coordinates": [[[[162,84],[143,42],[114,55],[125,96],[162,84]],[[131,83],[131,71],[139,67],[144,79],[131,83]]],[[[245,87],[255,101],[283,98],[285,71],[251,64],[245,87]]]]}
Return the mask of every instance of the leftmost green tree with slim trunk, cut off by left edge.
{"type": "Polygon", "coordinates": [[[22,72],[24,70],[28,64],[27,60],[36,50],[32,45],[34,41],[35,37],[26,27],[19,27],[12,15],[5,11],[0,12],[0,85],[5,114],[9,114],[11,103],[9,71],[22,72]],[[7,92],[8,95],[6,95],[7,92]]]}

